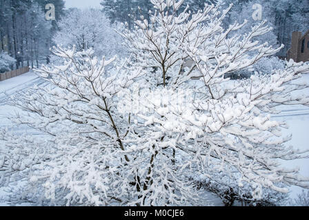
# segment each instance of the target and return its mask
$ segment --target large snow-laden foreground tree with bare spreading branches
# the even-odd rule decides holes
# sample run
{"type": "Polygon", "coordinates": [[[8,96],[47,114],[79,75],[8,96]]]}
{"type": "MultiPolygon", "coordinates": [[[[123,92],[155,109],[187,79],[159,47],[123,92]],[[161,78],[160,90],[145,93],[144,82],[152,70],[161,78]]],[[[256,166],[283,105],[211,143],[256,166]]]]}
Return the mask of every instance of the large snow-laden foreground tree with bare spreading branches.
{"type": "Polygon", "coordinates": [[[232,5],[222,14],[215,5],[192,14],[179,11],[183,1],[152,3],[150,22],[141,17],[122,33],[132,53],[126,63],[58,48],[63,65],[37,69],[50,85],[12,97],[25,110],[13,121],[41,135],[1,129],[3,184],[27,180],[23,197],[11,200],[205,205],[195,175],[237,186],[252,199],[263,199],[266,190],[286,193],[290,185],[309,188],[308,177],[279,162],[308,151],[287,146],[285,122],[270,118],[279,105],[309,105],[308,95],[290,95],[309,87],[295,82],[309,65],[290,61],[271,74],[231,81],[224,74],[281,49],[252,40],[271,30],[265,21],[233,36],[243,24],[221,27],[232,5]]]}

